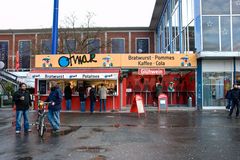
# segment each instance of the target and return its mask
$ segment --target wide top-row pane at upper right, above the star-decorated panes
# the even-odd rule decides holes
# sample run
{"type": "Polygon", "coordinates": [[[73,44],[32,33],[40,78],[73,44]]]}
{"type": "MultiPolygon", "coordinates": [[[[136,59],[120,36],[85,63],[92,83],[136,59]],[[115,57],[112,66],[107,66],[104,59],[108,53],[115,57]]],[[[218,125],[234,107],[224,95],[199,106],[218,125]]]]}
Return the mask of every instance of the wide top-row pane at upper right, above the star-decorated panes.
{"type": "Polygon", "coordinates": [[[202,14],[230,14],[230,0],[202,0],[202,14]]]}

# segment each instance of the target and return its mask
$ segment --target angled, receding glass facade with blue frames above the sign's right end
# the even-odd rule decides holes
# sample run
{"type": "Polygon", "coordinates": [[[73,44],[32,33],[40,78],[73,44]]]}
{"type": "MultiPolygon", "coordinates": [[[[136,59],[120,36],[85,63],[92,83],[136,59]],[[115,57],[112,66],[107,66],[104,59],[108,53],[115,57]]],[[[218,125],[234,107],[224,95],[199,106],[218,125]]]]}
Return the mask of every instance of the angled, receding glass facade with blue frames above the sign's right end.
{"type": "Polygon", "coordinates": [[[194,0],[170,0],[162,15],[158,25],[159,52],[194,51],[194,0]]]}

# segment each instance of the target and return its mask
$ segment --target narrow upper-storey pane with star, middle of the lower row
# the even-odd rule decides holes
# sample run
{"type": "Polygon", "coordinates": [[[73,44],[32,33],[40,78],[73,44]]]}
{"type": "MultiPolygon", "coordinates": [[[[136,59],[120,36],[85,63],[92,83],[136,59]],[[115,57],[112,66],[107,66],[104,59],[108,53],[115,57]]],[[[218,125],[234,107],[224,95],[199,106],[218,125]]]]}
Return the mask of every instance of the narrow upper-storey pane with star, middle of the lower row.
{"type": "Polygon", "coordinates": [[[221,50],[231,51],[230,17],[221,17],[221,50]]]}

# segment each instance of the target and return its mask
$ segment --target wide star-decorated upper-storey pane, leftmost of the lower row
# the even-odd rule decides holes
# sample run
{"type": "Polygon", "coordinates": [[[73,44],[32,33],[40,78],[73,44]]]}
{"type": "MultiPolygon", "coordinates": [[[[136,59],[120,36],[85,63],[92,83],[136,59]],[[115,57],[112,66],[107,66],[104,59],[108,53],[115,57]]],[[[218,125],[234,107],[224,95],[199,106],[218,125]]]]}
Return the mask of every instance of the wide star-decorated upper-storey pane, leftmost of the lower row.
{"type": "Polygon", "coordinates": [[[203,50],[219,51],[219,21],[217,16],[203,16],[203,50]]]}

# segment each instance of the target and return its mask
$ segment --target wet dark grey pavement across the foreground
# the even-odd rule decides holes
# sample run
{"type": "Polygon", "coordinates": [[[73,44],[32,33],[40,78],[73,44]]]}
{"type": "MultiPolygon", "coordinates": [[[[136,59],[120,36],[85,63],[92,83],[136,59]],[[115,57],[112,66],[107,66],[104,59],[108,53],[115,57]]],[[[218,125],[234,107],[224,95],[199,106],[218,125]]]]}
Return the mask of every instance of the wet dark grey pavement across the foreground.
{"type": "MultiPolygon", "coordinates": [[[[2,160],[238,160],[240,119],[227,112],[136,114],[61,113],[59,134],[15,134],[10,110],[0,110],[2,160]]],[[[31,122],[36,113],[30,114],[31,122]]]]}

